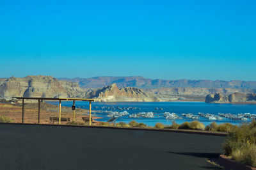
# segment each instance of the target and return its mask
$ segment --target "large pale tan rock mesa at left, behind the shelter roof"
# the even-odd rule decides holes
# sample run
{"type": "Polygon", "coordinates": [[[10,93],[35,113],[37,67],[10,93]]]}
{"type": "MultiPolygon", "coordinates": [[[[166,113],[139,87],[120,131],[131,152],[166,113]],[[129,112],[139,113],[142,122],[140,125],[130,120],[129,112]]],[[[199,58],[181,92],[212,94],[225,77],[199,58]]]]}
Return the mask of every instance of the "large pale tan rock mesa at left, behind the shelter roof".
{"type": "Polygon", "coordinates": [[[84,90],[76,82],[58,81],[51,76],[0,79],[0,98],[84,97],[84,95],[84,90]]]}

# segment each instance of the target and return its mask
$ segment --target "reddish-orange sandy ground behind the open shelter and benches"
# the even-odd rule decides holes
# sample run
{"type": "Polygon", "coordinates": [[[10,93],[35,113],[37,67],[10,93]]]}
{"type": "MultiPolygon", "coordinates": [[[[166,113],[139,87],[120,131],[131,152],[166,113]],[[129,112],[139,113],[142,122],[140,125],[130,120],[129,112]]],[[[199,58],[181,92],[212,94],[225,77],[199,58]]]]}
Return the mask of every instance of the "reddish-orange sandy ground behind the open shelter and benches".
{"type": "MultiPolygon", "coordinates": [[[[82,117],[88,115],[87,109],[76,109],[75,122],[83,123],[82,117]]],[[[22,122],[22,104],[0,104],[0,116],[7,116],[12,119],[13,123],[22,122]]],[[[40,103],[40,123],[52,124],[49,117],[59,117],[58,105],[40,103]]],[[[73,111],[70,107],[61,107],[61,117],[73,119],[73,111]]],[[[97,118],[97,117],[92,117],[97,118]]],[[[24,105],[24,123],[38,123],[38,104],[25,104],[24,105]]],[[[66,123],[62,123],[66,124],[66,123]]]]}

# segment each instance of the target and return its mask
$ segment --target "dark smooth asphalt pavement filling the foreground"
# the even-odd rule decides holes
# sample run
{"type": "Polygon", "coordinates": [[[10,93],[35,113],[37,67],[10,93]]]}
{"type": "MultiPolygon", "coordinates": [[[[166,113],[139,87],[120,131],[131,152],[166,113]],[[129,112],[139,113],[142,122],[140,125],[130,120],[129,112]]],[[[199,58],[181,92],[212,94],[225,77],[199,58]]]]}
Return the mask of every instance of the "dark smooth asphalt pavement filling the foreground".
{"type": "Polygon", "coordinates": [[[0,169],[218,169],[224,137],[0,124],[0,169]]]}

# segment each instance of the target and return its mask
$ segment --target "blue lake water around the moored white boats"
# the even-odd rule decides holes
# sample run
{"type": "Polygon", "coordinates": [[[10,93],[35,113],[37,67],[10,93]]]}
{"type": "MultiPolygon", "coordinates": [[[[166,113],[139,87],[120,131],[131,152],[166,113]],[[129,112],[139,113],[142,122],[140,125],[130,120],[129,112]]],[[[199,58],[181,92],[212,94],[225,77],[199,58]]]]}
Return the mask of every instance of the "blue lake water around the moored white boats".
{"type": "MultiPolygon", "coordinates": [[[[49,102],[50,104],[58,105],[58,102],[49,102]]],[[[72,102],[61,102],[61,105],[71,107],[72,102]]],[[[251,114],[256,114],[256,105],[252,104],[206,104],[204,102],[116,102],[116,103],[106,103],[106,102],[92,102],[92,112],[93,116],[99,116],[102,119],[99,121],[108,121],[110,118],[108,117],[108,113],[104,111],[111,111],[109,109],[101,109],[100,107],[137,107],[140,108],[134,110],[126,110],[129,114],[137,114],[138,112],[154,112],[154,118],[129,118],[127,116],[122,116],[116,120],[116,122],[123,121],[125,123],[129,123],[132,120],[142,122],[147,124],[148,126],[154,126],[157,122],[163,123],[164,125],[172,125],[172,121],[176,123],[182,123],[184,121],[193,121],[189,118],[185,118],[182,116],[182,113],[192,113],[197,115],[198,112],[203,113],[211,113],[211,114],[218,114],[220,113],[231,113],[231,114],[239,114],[239,113],[247,113],[250,112],[251,114]],[[99,108],[95,108],[99,107],[99,108]],[[161,108],[163,110],[156,109],[161,108]],[[164,112],[175,112],[181,119],[178,120],[166,120],[163,117],[164,112]]],[[[82,109],[89,109],[88,102],[76,102],[76,108],[82,109]]],[[[113,111],[122,112],[118,109],[113,111]]],[[[123,110],[124,111],[124,110],[123,110]]],[[[209,121],[208,118],[200,117],[200,122],[204,123],[205,125],[209,125],[212,121],[209,121]]],[[[223,118],[223,120],[215,120],[216,123],[232,123],[239,125],[246,121],[241,120],[231,120],[228,118],[223,118]]],[[[248,120],[250,121],[250,120],[248,120]]]]}

